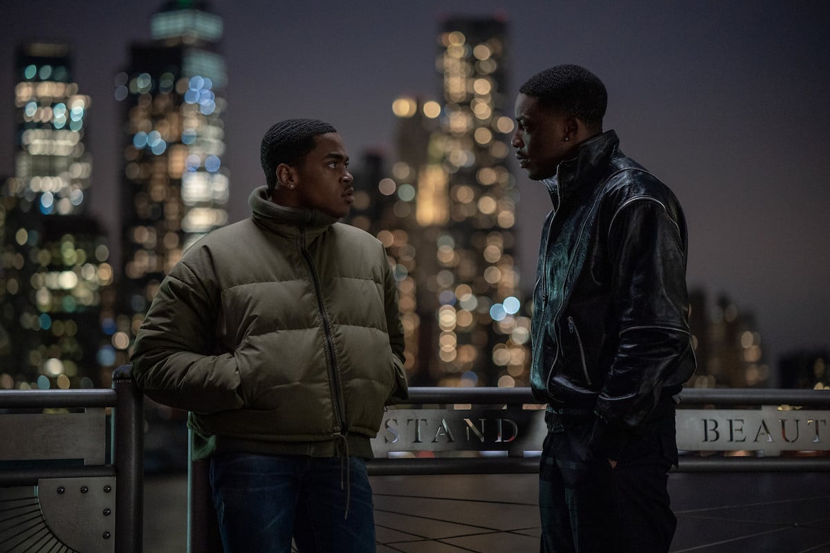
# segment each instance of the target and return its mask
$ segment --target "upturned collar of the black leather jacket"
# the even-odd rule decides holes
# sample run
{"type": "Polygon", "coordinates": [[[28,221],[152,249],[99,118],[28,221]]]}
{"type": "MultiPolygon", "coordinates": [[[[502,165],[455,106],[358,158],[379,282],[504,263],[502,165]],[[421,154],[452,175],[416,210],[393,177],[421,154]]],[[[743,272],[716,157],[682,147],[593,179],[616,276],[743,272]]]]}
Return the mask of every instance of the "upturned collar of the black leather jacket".
{"type": "Polygon", "coordinates": [[[561,202],[583,184],[593,186],[598,182],[608,167],[608,161],[617,152],[619,143],[617,133],[613,130],[588,138],[579,144],[575,158],[559,163],[556,175],[541,182],[547,187],[551,197],[558,197],[561,202]]]}

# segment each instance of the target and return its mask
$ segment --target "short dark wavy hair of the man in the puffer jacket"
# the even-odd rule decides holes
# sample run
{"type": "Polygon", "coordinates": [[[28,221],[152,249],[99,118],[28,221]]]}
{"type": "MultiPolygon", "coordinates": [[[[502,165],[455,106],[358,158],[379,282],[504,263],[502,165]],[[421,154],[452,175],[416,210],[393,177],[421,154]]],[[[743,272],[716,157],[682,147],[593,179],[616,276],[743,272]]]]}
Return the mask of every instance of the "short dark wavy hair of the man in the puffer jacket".
{"type": "Polygon", "coordinates": [[[318,134],[336,133],[330,124],[317,119],[286,119],[271,126],[262,137],[260,163],[265,172],[268,193],[276,187],[276,167],[286,163],[296,167],[314,149],[318,134]]]}

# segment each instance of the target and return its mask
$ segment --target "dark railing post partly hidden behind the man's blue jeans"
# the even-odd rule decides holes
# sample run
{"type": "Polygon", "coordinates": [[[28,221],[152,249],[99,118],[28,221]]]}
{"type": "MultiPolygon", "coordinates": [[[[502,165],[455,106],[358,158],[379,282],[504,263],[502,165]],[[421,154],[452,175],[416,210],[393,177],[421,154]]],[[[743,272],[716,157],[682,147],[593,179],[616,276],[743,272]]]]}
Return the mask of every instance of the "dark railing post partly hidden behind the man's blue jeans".
{"type": "Polygon", "coordinates": [[[188,553],[222,553],[222,536],[211,498],[210,461],[193,460],[191,429],[188,429],[188,553]]]}

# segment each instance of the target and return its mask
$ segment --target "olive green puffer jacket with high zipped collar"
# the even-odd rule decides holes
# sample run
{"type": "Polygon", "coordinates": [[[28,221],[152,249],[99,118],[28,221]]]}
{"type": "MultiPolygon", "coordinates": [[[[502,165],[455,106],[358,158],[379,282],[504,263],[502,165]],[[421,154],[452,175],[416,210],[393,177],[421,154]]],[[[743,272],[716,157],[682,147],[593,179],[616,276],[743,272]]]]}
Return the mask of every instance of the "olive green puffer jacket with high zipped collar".
{"type": "Polygon", "coordinates": [[[407,397],[398,295],[383,245],[278,206],[185,252],[131,358],[150,398],[191,411],[196,458],[223,451],[370,456],[384,405],[407,397]]]}

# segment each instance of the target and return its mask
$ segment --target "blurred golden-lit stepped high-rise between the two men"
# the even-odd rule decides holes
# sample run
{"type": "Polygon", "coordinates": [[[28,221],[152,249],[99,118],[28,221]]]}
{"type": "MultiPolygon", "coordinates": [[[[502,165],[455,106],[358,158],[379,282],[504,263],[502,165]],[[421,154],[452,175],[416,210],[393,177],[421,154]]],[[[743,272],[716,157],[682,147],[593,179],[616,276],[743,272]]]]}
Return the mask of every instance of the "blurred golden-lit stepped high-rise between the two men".
{"type": "Polygon", "coordinates": [[[367,192],[380,209],[367,230],[395,260],[414,384],[528,384],[506,41],[501,17],[442,22],[440,97],[393,102],[396,161],[367,192]]]}

